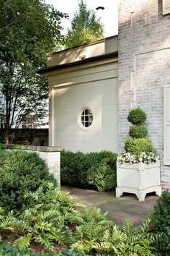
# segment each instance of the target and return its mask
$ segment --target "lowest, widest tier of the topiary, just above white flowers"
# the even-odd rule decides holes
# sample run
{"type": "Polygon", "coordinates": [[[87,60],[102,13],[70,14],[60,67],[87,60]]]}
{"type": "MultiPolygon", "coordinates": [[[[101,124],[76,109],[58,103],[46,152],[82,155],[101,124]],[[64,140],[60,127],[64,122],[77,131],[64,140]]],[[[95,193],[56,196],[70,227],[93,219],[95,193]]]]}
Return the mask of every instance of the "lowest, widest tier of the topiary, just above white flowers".
{"type": "Polygon", "coordinates": [[[125,150],[131,153],[151,152],[153,150],[150,139],[128,138],[125,140],[125,150]]]}

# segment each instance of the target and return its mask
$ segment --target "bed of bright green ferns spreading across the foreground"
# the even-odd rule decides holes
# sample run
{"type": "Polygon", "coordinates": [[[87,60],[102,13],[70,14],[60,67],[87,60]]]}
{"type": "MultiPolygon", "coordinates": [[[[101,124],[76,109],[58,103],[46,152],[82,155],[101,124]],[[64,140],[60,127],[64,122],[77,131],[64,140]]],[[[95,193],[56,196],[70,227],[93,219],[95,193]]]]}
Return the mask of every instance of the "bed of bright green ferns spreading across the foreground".
{"type": "MultiPolygon", "coordinates": [[[[160,250],[164,249],[163,255],[168,255],[168,247],[165,250],[161,244],[164,231],[156,232],[157,224],[153,218],[159,201],[153,215],[137,228],[132,221],[125,221],[122,227],[116,226],[109,221],[107,213],[103,214],[99,208],[85,208],[69,192],[58,191],[53,183],[39,187],[35,192],[27,192],[24,198],[27,197],[30,198],[27,210],[19,216],[14,212],[6,215],[3,209],[0,211],[0,236],[3,241],[0,243],[0,252],[15,250],[19,255],[49,256],[153,256],[161,255],[160,250]],[[6,244],[6,239],[12,241],[14,246],[6,244]],[[40,247],[37,247],[38,244],[40,247]],[[35,248],[38,248],[37,251],[32,251],[35,248]]],[[[169,208],[166,205],[169,202],[167,198],[169,192],[163,193],[159,199],[165,203],[165,212],[169,208]]],[[[163,226],[164,230],[168,230],[169,217],[163,226]]]]}

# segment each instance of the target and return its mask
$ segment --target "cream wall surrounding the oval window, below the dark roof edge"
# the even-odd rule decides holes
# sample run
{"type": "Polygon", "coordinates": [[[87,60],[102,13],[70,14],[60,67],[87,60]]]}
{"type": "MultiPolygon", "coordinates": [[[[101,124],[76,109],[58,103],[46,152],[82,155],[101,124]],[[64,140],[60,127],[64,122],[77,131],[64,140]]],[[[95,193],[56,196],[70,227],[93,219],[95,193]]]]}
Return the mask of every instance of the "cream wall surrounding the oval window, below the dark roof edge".
{"type": "Polygon", "coordinates": [[[49,145],[83,152],[117,152],[117,58],[51,72],[49,145]],[[84,131],[77,119],[84,106],[93,123],[84,131]]]}

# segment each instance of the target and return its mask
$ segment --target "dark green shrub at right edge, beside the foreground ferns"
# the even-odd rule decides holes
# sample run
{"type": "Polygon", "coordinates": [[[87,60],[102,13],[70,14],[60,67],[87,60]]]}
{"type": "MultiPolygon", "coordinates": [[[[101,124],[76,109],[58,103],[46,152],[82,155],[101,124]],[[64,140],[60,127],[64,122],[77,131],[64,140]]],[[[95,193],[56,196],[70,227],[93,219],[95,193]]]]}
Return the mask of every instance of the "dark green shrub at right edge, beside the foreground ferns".
{"type": "Polygon", "coordinates": [[[164,191],[156,201],[149,226],[151,233],[160,234],[154,244],[161,255],[168,256],[170,252],[170,192],[164,191]]]}

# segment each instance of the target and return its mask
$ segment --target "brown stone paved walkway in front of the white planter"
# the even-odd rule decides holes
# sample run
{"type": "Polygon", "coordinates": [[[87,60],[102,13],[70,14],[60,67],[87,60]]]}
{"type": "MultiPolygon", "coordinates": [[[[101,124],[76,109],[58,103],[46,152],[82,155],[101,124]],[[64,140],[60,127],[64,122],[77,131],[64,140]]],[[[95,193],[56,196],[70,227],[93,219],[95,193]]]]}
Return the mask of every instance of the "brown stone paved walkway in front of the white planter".
{"type": "Polygon", "coordinates": [[[131,220],[140,225],[151,213],[158,199],[156,195],[148,194],[144,202],[139,202],[133,194],[124,194],[117,198],[115,192],[97,192],[67,186],[62,186],[61,189],[70,191],[71,195],[77,197],[88,208],[98,207],[102,212],[107,211],[109,218],[117,224],[131,220]]]}

